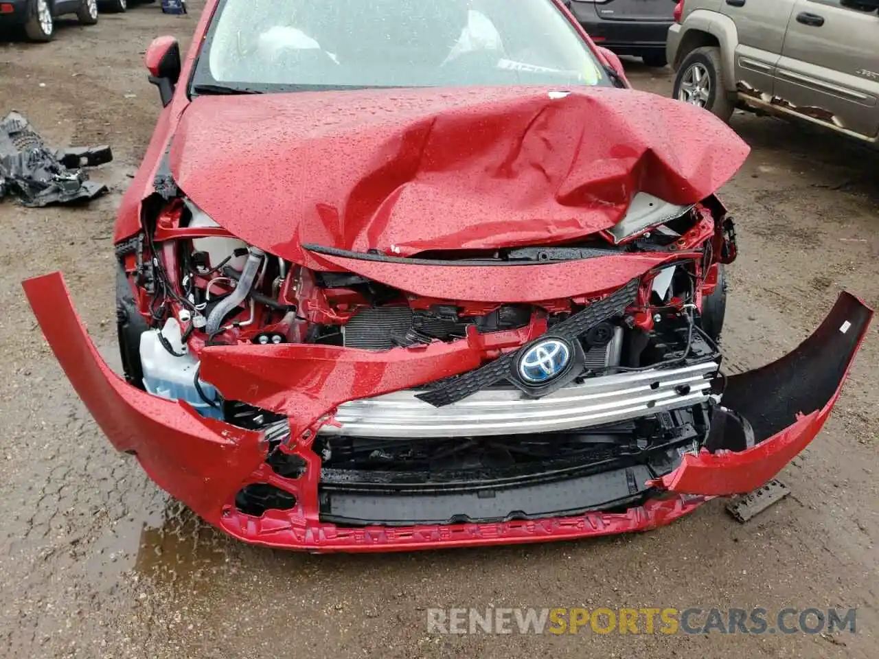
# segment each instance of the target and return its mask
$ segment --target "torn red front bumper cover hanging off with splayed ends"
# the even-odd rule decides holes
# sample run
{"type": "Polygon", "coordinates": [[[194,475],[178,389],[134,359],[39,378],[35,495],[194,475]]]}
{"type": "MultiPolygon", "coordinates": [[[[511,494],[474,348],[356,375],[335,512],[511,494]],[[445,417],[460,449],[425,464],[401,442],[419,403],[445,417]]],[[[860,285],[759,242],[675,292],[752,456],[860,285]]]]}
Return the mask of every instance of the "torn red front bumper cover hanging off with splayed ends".
{"type": "MultiPolygon", "coordinates": [[[[98,425],[120,451],[134,453],[149,476],[211,524],[248,542],[271,547],[331,551],[393,551],[564,540],[665,525],[711,496],[756,489],[781,471],[815,438],[839,397],[843,381],[868,329],[873,312],[842,293],[831,313],[795,351],[726,383],[723,413],[709,433],[713,453],[685,455],[671,474],[651,483],[656,496],[623,513],[591,512],[492,524],[345,528],[318,518],[320,463],[305,451],[304,473],[282,479],[265,464],[261,433],[201,417],[181,402],[164,401],[131,387],[98,355],[60,273],[29,279],[25,293],[49,344],[98,425]],[[745,424],[738,423],[744,417],[745,424]],[[253,482],[269,482],[296,497],[291,511],[244,515],[236,492],[253,482]]],[[[461,342],[458,342],[461,343],[461,342]]],[[[257,346],[253,346],[257,348],[257,346]]],[[[430,346],[401,357],[399,352],[328,350],[291,345],[283,358],[293,368],[295,390],[283,390],[266,372],[266,356],[250,347],[224,349],[214,358],[214,376],[250,372],[254,398],[284,399],[300,410],[291,417],[294,437],[308,436],[318,417],[355,397],[415,387],[475,366],[476,355],[456,344],[430,346]],[[352,395],[356,383],[356,395],[352,395]]],[[[278,369],[290,373],[287,368],[278,369]]],[[[222,391],[222,382],[213,380],[222,391]]]]}

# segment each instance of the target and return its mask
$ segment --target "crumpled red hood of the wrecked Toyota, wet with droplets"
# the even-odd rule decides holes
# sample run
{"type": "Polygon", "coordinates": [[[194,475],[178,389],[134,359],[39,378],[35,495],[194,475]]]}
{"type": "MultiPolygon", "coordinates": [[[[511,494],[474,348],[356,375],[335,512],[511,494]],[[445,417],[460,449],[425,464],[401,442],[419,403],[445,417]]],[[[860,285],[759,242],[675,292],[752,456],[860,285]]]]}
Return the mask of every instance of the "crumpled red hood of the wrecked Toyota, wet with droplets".
{"type": "Polygon", "coordinates": [[[749,148],[708,112],[631,90],[332,91],[200,97],[171,172],[244,241],[408,256],[560,243],[609,228],[636,192],[692,204],[749,148]]]}

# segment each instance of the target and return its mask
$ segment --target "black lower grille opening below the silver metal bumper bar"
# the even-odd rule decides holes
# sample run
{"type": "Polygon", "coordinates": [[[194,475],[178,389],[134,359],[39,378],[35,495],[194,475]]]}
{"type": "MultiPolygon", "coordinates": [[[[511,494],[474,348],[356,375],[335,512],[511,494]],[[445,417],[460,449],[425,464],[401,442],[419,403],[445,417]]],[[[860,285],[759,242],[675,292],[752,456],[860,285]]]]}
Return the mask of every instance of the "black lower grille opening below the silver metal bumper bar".
{"type": "Polygon", "coordinates": [[[321,518],[419,525],[621,510],[650,496],[647,482],[697,450],[707,429],[707,410],[697,406],[582,433],[331,438],[331,446],[318,438],[321,518]]]}

